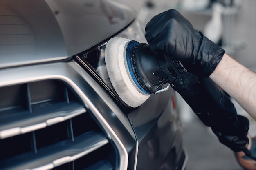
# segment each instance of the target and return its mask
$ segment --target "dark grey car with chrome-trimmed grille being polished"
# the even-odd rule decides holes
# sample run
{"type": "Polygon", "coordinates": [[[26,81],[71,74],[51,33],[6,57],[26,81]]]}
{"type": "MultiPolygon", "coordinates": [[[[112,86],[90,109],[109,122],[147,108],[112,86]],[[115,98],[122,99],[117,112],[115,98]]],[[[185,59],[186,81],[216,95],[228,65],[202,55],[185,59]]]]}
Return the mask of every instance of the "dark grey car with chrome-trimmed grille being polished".
{"type": "Polygon", "coordinates": [[[124,0],[0,2],[1,170],[184,170],[172,89],[127,106],[109,80],[112,37],[144,38],[124,0]]]}

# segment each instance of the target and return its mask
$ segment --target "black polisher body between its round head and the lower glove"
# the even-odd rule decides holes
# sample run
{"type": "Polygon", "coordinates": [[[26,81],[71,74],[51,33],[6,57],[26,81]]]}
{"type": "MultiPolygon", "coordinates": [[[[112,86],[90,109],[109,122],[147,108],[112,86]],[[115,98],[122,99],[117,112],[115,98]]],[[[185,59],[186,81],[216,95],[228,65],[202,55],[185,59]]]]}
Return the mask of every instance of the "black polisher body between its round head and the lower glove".
{"type": "Polygon", "coordinates": [[[210,78],[198,77],[184,68],[180,61],[164,54],[159,67],[177,91],[206,126],[238,121],[229,96],[210,78]]]}

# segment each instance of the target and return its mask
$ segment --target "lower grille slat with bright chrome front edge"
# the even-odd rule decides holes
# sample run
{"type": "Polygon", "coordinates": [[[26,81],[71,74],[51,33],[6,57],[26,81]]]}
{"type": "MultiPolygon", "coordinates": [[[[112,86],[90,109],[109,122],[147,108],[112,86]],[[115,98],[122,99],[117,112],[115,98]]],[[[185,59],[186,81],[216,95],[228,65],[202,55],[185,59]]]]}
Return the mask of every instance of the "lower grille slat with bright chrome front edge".
{"type": "Polygon", "coordinates": [[[74,141],[62,141],[41,148],[37,154],[29,152],[4,159],[0,161],[1,165],[3,165],[1,169],[22,170],[40,168],[40,170],[44,170],[49,165],[57,167],[75,161],[106,144],[108,144],[108,140],[105,135],[101,132],[91,131],[76,137],[74,141]],[[22,157],[23,159],[21,159],[22,157]],[[15,162],[15,166],[13,166],[13,162],[15,162]]]}

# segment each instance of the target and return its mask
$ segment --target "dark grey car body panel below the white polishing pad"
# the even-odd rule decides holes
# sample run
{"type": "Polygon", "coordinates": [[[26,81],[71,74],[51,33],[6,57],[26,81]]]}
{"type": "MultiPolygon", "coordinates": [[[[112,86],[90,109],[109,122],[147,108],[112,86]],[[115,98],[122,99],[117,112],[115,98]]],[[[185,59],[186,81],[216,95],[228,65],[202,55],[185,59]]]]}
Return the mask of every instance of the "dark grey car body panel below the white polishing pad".
{"type": "Polygon", "coordinates": [[[177,161],[182,160],[182,127],[174,96],[173,90],[150,96],[128,113],[139,141],[137,170],[172,170],[177,168],[177,161]]]}

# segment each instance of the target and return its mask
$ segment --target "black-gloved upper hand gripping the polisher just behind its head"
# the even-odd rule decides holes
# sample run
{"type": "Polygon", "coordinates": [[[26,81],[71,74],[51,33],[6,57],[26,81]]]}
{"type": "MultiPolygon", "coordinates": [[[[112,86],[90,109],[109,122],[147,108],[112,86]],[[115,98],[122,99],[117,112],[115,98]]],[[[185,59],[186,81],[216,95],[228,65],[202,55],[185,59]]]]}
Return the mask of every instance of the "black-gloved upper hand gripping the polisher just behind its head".
{"type": "Polygon", "coordinates": [[[153,52],[167,53],[180,60],[189,72],[204,77],[211,75],[225,53],[173,9],[153,17],[145,30],[153,52]]]}

